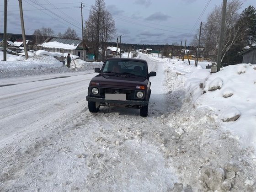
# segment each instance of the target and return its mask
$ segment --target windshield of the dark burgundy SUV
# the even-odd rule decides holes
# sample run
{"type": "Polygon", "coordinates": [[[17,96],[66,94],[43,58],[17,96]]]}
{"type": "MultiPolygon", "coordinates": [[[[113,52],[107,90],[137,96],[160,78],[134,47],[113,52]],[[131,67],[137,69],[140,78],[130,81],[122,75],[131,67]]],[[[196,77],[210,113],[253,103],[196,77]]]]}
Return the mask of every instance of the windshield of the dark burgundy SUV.
{"type": "Polygon", "coordinates": [[[147,69],[144,62],[108,60],[101,69],[101,73],[147,76],[147,69]]]}

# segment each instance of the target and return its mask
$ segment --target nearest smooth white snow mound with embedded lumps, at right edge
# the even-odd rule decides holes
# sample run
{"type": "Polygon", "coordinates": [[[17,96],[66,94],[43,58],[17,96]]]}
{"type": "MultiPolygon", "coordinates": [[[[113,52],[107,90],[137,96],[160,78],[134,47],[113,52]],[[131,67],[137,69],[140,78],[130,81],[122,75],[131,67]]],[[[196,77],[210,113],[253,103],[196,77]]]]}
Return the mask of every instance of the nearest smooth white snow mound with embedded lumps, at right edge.
{"type": "MultiPolygon", "coordinates": [[[[188,80],[190,81],[190,80],[188,80]]],[[[209,75],[194,106],[208,108],[240,141],[256,147],[256,66],[229,65],[209,75]]]]}

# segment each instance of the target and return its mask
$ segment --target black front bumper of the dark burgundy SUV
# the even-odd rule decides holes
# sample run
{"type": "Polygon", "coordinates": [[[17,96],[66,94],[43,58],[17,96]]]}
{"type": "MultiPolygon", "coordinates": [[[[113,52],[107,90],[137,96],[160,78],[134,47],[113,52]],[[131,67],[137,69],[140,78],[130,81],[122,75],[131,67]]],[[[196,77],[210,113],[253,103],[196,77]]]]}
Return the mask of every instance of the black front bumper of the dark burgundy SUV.
{"type": "Polygon", "coordinates": [[[86,96],[86,101],[95,101],[99,103],[117,103],[126,105],[146,106],[149,101],[133,101],[133,100],[107,100],[104,98],[86,96]]]}

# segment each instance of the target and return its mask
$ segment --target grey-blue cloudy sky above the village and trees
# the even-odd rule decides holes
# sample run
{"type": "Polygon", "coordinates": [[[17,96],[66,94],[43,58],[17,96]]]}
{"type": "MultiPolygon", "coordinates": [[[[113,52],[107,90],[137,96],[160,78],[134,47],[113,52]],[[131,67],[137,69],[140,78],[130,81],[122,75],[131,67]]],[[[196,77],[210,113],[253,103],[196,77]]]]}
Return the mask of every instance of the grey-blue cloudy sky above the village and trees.
{"type": "MultiPolygon", "coordinates": [[[[245,1],[240,12],[255,0],[245,1]]],[[[81,2],[83,20],[87,20],[95,0],[22,0],[25,32],[31,35],[36,29],[50,27],[58,34],[68,27],[81,37],[81,2]]],[[[191,43],[200,22],[222,0],[105,0],[107,10],[112,14],[117,28],[116,37],[123,43],[133,44],[180,44],[187,39],[191,43]]],[[[18,0],[8,0],[7,32],[21,33],[18,0]]],[[[4,18],[4,1],[0,3],[0,16],[4,18]]],[[[2,20],[2,19],[1,19],[2,20]]],[[[3,21],[3,20],[2,20],[3,21]]],[[[0,23],[3,32],[3,22],[0,23]]]]}

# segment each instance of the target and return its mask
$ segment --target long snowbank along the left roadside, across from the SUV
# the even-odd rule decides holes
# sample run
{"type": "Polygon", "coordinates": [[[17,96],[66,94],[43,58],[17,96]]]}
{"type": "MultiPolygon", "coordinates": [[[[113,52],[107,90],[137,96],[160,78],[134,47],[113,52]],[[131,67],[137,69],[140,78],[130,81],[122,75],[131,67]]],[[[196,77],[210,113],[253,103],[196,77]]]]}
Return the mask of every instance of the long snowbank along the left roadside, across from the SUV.
{"type": "MultiPolygon", "coordinates": [[[[28,52],[30,53],[30,52],[28,52]]],[[[27,75],[42,75],[50,73],[67,73],[75,71],[93,71],[94,68],[101,68],[102,62],[85,62],[76,55],[70,55],[70,69],[58,59],[68,55],[68,53],[51,53],[39,50],[31,54],[27,60],[25,57],[7,54],[7,61],[0,62],[0,78],[18,77],[27,75]]],[[[0,52],[0,59],[3,53],[0,52]]],[[[61,59],[60,59],[61,60],[61,59]]],[[[65,59],[64,59],[65,61],[65,59]]],[[[66,61],[65,61],[66,64],[66,61]]]]}

